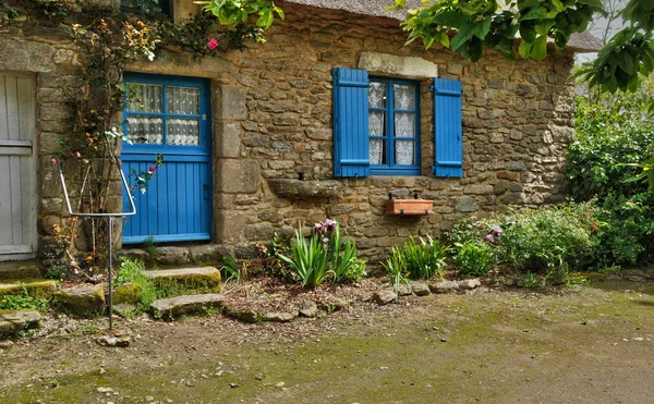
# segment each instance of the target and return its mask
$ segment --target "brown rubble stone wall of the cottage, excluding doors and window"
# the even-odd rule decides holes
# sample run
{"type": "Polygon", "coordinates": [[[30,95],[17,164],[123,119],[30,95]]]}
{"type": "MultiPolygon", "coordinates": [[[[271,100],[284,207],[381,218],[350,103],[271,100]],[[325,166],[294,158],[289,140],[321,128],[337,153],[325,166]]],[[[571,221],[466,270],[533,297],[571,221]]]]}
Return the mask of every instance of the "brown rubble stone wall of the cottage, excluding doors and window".
{"type": "MultiPolygon", "coordinates": [[[[402,237],[439,233],[469,215],[509,204],[537,206],[564,198],[561,170],[573,136],[571,53],[544,61],[509,61],[486,51],[469,63],[447,50],[403,47],[398,22],[341,11],[282,4],[268,42],[193,61],[170,51],[128,70],[211,79],[214,147],[214,244],[239,257],[275,231],[292,233],[299,222],[338,219],[355,236],[361,255],[375,261],[402,237]],[[421,83],[422,175],[337,179],[340,187],[318,196],[278,195],[274,180],[334,180],[331,70],[358,68],[362,52],[420,58],[440,77],[463,85],[462,179],[436,179],[432,77],[421,83]],[[425,217],[384,215],[388,194],[417,192],[434,201],[425,217]]],[[[62,212],[61,193],[49,162],[66,131],[62,107],[77,84],[77,54],[63,29],[31,26],[0,30],[0,70],[29,72],[37,83],[39,232],[47,244],[62,212]]],[[[372,72],[371,74],[374,74],[372,72]]],[[[310,183],[320,185],[322,183],[310,183]]]]}

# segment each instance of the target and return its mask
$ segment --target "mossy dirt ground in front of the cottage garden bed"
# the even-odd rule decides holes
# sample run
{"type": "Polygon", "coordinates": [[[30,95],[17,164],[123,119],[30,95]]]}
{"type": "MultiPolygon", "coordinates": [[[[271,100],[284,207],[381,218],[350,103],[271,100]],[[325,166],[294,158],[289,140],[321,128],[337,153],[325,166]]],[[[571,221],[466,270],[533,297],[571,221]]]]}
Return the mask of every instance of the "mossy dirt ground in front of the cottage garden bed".
{"type": "Polygon", "coordinates": [[[651,403],[654,287],[621,287],[410,298],[291,325],[137,319],[128,348],[83,330],[4,348],[0,401],[651,403]]]}

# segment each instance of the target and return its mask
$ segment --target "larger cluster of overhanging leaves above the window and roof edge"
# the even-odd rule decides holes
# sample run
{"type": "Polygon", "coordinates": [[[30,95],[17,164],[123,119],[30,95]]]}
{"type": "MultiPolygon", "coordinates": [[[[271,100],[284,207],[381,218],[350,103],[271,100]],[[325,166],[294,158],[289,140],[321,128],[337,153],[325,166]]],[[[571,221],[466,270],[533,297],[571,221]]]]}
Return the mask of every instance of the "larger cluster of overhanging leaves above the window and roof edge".
{"type": "MultiPolygon", "coordinates": [[[[407,0],[395,2],[389,9],[399,10],[407,4],[407,0]]],[[[600,0],[506,1],[506,5],[501,8],[497,1],[424,2],[408,11],[401,26],[410,32],[408,42],[422,38],[425,48],[429,48],[438,41],[473,62],[482,57],[484,45],[514,59],[519,32],[520,56],[543,59],[547,56],[548,38],[560,50],[572,34],[586,29],[593,13],[604,12],[600,0]],[[457,32],[451,42],[450,29],[457,32]]]]}

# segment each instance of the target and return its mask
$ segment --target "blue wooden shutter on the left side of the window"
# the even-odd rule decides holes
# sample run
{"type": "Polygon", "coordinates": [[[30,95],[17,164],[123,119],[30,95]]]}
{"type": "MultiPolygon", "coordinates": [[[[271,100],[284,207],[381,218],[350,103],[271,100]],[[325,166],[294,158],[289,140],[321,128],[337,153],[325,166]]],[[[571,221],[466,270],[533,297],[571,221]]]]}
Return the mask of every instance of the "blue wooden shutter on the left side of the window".
{"type": "Polygon", "coordinates": [[[334,69],[334,176],[368,176],[368,76],[334,69]]]}

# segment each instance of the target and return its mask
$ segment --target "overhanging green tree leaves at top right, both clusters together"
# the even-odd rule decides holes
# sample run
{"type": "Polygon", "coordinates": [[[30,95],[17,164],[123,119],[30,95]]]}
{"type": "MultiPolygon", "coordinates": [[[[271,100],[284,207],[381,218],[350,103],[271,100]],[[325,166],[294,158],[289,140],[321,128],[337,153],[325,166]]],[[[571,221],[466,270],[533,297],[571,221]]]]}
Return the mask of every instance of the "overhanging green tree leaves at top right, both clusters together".
{"type": "MultiPolygon", "coordinates": [[[[401,10],[407,0],[395,0],[389,9],[401,10]]],[[[505,7],[491,0],[441,0],[409,10],[401,26],[410,32],[408,42],[421,38],[425,48],[435,41],[474,62],[484,45],[514,59],[516,35],[522,58],[543,59],[547,44],[557,50],[570,36],[586,30],[593,17],[605,14],[601,0],[506,0],[505,7]],[[448,35],[451,30],[456,35],[448,35]]],[[[577,74],[603,91],[634,91],[640,76],[654,70],[654,1],[630,0],[621,11],[628,26],[600,51],[594,63],[577,74]]]]}

